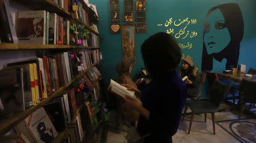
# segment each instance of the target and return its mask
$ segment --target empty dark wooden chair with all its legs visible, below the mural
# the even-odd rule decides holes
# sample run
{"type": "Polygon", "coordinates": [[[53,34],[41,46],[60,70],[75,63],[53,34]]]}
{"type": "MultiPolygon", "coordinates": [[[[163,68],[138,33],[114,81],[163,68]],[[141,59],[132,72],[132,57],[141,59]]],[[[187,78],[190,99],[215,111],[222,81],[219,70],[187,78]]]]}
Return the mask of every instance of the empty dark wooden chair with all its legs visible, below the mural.
{"type": "MultiPolygon", "coordinates": [[[[213,125],[213,135],[215,135],[215,118],[214,113],[218,111],[220,107],[220,102],[225,98],[228,93],[230,86],[224,83],[221,83],[218,79],[215,79],[210,86],[210,98],[206,101],[196,101],[191,100],[187,101],[185,106],[184,114],[186,114],[188,106],[192,111],[191,120],[189,124],[188,134],[191,131],[192,122],[195,114],[204,114],[204,122],[207,122],[207,113],[212,114],[212,125],[213,125]]],[[[184,116],[183,116],[184,117],[184,116]]]]}

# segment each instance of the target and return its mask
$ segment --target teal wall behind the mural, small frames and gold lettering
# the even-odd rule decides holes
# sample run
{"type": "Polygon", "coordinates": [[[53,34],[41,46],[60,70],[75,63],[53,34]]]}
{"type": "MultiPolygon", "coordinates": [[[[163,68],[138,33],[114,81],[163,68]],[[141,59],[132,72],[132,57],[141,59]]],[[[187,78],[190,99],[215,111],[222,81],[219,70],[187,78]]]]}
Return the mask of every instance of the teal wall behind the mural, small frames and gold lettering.
{"type": "MultiPolygon", "coordinates": [[[[134,0],[135,1],[135,0],[134,0]]],[[[109,22],[109,1],[108,0],[90,0],[90,3],[97,6],[98,16],[100,21],[98,22],[98,30],[100,32],[100,46],[102,51],[103,60],[101,62],[102,73],[104,75],[104,83],[109,85],[110,79],[115,79],[117,73],[115,72],[115,66],[122,60],[122,47],[121,47],[121,33],[110,34],[110,22],[109,22]]],[[[123,19],[123,0],[120,3],[120,16],[121,24],[123,19]]],[[[201,55],[203,49],[203,27],[204,19],[207,12],[213,6],[221,5],[224,3],[237,3],[242,12],[244,33],[240,46],[240,58],[238,64],[246,64],[247,70],[250,67],[256,68],[256,1],[255,0],[147,0],[146,1],[146,23],[147,33],[136,33],[136,57],[137,63],[133,67],[132,77],[135,77],[144,67],[141,56],[141,44],[157,32],[166,32],[167,29],[174,28],[175,36],[180,29],[184,29],[187,22],[175,26],[174,23],[168,27],[164,26],[166,20],[172,18],[172,22],[176,20],[175,24],[178,24],[179,19],[188,20],[196,19],[196,23],[189,23],[185,28],[185,31],[196,32],[197,36],[189,37],[191,33],[184,39],[185,34],[177,38],[179,44],[187,45],[192,44],[191,49],[185,47],[182,49],[182,53],[187,57],[189,55],[193,58],[193,63],[201,69],[201,55]],[[158,24],[163,24],[158,26],[158,24]]],[[[135,10],[134,10],[135,14],[135,10]]],[[[135,18],[135,15],[134,15],[135,18]]],[[[135,21],[135,19],[134,19],[135,21]]],[[[191,21],[190,21],[191,22],[191,21]]],[[[135,22],[134,22],[135,24],[135,22]]],[[[177,36],[177,35],[176,35],[177,36]]],[[[191,34],[192,36],[192,34],[191,34]]],[[[225,37],[224,37],[225,38],[225,37]]],[[[156,47],[158,48],[158,47],[156,47]]],[[[164,61],[163,61],[164,62],[164,61]]],[[[224,66],[225,67],[225,66],[224,66]]],[[[214,72],[222,72],[224,67],[218,68],[214,72]]]]}

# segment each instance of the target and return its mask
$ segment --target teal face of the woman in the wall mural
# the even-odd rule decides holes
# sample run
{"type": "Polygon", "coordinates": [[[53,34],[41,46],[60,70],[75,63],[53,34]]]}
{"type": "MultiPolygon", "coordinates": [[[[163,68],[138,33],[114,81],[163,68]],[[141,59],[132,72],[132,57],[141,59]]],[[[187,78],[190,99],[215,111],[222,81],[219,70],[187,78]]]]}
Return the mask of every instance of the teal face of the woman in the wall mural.
{"type": "Polygon", "coordinates": [[[208,54],[218,53],[228,46],[230,34],[219,9],[212,11],[204,25],[204,44],[208,54]]]}

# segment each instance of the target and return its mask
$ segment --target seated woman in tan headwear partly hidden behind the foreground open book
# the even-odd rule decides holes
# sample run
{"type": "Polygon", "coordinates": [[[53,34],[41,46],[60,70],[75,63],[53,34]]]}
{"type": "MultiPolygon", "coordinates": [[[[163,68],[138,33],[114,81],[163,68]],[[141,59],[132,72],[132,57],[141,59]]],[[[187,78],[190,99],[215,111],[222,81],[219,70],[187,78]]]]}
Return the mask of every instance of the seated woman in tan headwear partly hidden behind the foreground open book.
{"type": "MultiPolygon", "coordinates": [[[[116,71],[119,73],[116,81],[119,84],[127,84],[137,88],[136,83],[131,79],[130,74],[133,66],[135,64],[135,57],[122,60],[117,64],[116,71]]],[[[133,127],[137,127],[139,112],[132,109],[127,103],[123,102],[123,99],[119,96],[116,96],[117,102],[117,120],[119,125],[122,125],[122,121],[131,123],[133,127]]],[[[116,122],[117,123],[117,122],[116,122]]],[[[118,123],[117,123],[118,124],[118,123]]],[[[118,126],[118,125],[117,125],[118,126]]]]}

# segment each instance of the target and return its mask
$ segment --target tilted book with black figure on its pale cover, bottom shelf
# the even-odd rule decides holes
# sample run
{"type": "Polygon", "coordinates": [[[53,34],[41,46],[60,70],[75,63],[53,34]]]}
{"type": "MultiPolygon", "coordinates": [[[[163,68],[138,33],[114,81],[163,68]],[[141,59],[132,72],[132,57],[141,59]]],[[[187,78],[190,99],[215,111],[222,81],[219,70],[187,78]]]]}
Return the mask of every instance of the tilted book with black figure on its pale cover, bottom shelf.
{"type": "Polygon", "coordinates": [[[24,120],[39,143],[51,142],[58,134],[43,107],[24,120]]]}

